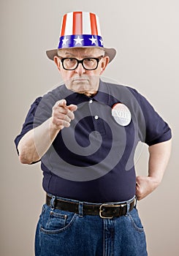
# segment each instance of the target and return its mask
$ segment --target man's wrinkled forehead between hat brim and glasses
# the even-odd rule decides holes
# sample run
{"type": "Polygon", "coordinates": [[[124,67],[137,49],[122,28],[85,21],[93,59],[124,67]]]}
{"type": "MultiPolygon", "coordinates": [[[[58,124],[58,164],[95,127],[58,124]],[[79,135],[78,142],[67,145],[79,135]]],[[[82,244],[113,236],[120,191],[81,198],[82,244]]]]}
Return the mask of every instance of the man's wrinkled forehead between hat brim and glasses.
{"type": "Polygon", "coordinates": [[[104,50],[101,48],[66,48],[59,49],[58,56],[99,57],[104,56],[104,50]]]}

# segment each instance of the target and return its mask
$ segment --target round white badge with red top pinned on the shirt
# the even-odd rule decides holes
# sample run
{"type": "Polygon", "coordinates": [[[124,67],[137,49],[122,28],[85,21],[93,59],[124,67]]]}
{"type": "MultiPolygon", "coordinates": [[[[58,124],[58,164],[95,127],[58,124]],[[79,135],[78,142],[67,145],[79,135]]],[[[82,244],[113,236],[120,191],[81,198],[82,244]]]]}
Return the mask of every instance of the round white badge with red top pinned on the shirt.
{"type": "Polygon", "coordinates": [[[112,108],[112,116],[115,118],[115,121],[123,127],[126,127],[130,124],[132,120],[132,115],[129,108],[122,103],[116,103],[112,108]]]}

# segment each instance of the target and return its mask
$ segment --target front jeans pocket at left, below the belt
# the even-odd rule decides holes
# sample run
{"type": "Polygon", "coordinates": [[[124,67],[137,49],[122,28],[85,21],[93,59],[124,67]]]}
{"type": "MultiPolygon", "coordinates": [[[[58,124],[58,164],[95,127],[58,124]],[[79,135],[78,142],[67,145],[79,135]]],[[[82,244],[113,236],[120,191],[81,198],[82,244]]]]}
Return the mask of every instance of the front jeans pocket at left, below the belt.
{"type": "Polygon", "coordinates": [[[60,233],[72,226],[77,214],[61,211],[58,209],[52,210],[46,206],[42,216],[40,230],[46,234],[60,233]]]}

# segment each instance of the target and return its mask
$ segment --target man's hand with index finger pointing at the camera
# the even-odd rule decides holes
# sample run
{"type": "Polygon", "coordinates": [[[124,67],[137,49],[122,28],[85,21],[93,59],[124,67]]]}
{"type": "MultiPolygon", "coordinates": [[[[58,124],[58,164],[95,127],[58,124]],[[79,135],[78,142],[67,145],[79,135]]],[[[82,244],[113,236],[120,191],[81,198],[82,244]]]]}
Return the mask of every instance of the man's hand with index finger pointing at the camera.
{"type": "Polygon", "coordinates": [[[51,125],[53,129],[61,130],[64,127],[69,127],[70,122],[75,118],[74,111],[77,110],[77,105],[66,106],[66,100],[61,99],[53,106],[51,125]]]}

